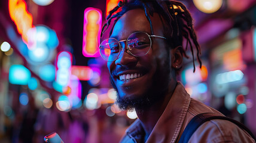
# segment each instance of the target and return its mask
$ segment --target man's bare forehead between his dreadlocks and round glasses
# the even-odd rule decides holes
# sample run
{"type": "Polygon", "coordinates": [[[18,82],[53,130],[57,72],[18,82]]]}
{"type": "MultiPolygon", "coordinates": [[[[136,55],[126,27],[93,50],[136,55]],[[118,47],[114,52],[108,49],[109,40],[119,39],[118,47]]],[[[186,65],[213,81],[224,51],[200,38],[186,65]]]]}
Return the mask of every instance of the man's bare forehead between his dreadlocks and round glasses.
{"type": "MultiPolygon", "coordinates": [[[[154,13],[150,16],[153,25],[154,35],[163,36],[163,23],[159,14],[154,13]]],[[[111,37],[119,40],[126,39],[133,32],[147,32],[151,35],[150,22],[148,21],[145,11],[135,9],[123,14],[114,26],[111,37]]]]}

